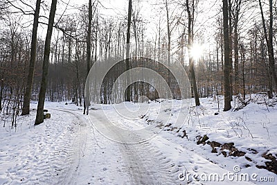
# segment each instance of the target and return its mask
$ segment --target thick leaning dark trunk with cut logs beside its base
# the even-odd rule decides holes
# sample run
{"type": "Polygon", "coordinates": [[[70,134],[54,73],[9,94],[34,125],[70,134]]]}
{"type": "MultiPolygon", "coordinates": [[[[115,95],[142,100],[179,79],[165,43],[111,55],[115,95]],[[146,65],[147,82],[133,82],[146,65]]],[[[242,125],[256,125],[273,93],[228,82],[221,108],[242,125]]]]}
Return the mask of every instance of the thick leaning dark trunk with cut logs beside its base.
{"type": "Polygon", "coordinates": [[[37,105],[37,116],[35,118],[35,125],[39,125],[44,121],[44,100],[45,100],[45,94],[46,94],[47,82],[48,82],[47,78],[48,78],[49,55],[50,55],[51,37],[53,32],[53,24],[55,19],[56,7],[57,7],[57,0],[52,0],[47,34],[45,39],[45,46],[44,46],[42,84],[40,85],[40,90],[39,90],[39,103],[37,105]]]}

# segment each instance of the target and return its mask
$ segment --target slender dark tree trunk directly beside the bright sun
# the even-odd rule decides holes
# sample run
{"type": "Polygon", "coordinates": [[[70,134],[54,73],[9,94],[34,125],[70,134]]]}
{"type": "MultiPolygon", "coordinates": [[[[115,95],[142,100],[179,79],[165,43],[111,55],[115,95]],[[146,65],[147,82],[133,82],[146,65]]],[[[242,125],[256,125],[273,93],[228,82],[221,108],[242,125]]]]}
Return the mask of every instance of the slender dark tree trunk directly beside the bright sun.
{"type": "MultiPolygon", "coordinates": [[[[193,1],[194,2],[194,1],[193,1]]],[[[194,3],[193,5],[194,6],[194,3]]],[[[197,91],[197,84],[196,84],[196,79],[195,79],[195,69],[194,69],[194,60],[193,57],[191,56],[191,46],[193,45],[193,16],[194,12],[190,11],[189,3],[188,0],[186,0],[186,10],[188,12],[188,57],[189,57],[189,65],[190,65],[190,80],[193,86],[193,92],[195,96],[195,105],[199,106],[200,101],[199,101],[199,95],[197,91]]],[[[194,8],[193,8],[194,11],[194,8]]]]}

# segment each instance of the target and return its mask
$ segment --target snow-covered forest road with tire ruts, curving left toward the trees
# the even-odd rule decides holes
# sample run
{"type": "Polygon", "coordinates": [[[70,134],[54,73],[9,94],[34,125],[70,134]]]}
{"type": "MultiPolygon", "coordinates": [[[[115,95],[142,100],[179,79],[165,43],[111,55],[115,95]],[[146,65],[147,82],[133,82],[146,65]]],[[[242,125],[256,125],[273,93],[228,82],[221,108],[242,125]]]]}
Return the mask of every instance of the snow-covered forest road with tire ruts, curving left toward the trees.
{"type": "MultiPolygon", "coordinates": [[[[107,143],[109,144],[108,150],[114,151],[113,155],[117,158],[116,161],[120,159],[120,164],[116,166],[117,170],[112,170],[112,176],[119,179],[124,177],[124,184],[175,184],[174,182],[177,179],[172,178],[177,177],[177,175],[172,175],[174,166],[148,141],[137,144],[116,143],[102,136],[93,128],[92,124],[89,125],[90,123],[87,123],[89,121],[88,117],[82,115],[80,111],[70,109],[53,110],[71,114],[78,119],[78,124],[85,125],[87,130],[81,129],[79,132],[79,143],[75,143],[73,147],[75,148],[75,156],[72,156],[72,164],[65,179],[61,182],[62,184],[82,184],[82,179],[87,179],[88,184],[121,184],[118,179],[109,177],[107,169],[114,168],[114,166],[108,166],[106,169],[105,163],[101,163],[101,159],[97,160],[99,156],[96,156],[98,153],[96,151],[106,148],[107,143]],[[92,169],[96,164],[104,166],[104,172],[103,169],[94,171],[94,173],[100,173],[100,175],[102,173],[103,177],[91,178],[94,175],[97,176],[93,174],[92,169]]],[[[97,112],[93,114],[93,121],[102,121],[97,112]]],[[[105,123],[103,124],[105,125],[105,123]]],[[[118,132],[113,134],[120,135],[118,132]]],[[[107,157],[107,161],[110,164],[115,162],[114,159],[109,159],[109,157],[107,157]]]]}

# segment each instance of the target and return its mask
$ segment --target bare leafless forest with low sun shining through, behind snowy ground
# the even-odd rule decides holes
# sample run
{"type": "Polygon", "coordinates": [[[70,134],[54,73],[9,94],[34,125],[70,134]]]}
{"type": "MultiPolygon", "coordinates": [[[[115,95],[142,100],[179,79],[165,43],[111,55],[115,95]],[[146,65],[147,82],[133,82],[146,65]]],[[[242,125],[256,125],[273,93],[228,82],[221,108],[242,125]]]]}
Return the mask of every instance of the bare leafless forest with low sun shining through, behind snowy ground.
{"type": "Polygon", "coordinates": [[[110,10],[108,3],[0,1],[1,120],[16,127],[31,101],[38,101],[35,124],[43,122],[45,100],[85,107],[91,67],[119,60],[123,66],[94,87],[102,91],[96,102],[161,98],[147,82],[110,93],[111,81],[136,67],[161,73],[178,98],[180,89],[160,61],[173,68],[181,64],[195,105],[201,105],[199,98],[222,95],[229,111],[234,99],[247,105],[247,95],[276,96],[277,1],[125,0],[118,5],[123,11],[110,10]],[[130,53],[141,58],[129,59],[130,53]]]}

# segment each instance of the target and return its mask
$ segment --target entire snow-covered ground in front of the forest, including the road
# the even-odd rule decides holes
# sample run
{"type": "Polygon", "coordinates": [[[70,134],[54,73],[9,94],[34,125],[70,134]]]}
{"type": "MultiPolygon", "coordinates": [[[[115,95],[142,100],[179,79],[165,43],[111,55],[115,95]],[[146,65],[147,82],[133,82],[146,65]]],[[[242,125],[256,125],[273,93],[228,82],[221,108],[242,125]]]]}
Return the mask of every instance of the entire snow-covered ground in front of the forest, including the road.
{"type": "Polygon", "coordinates": [[[33,110],[16,132],[1,127],[0,184],[274,184],[276,173],[261,166],[276,158],[277,109],[274,100],[251,98],[222,112],[219,97],[218,115],[217,98],[202,98],[200,107],[91,105],[89,116],[46,103],[51,118],[41,125],[33,126],[33,110]]]}

